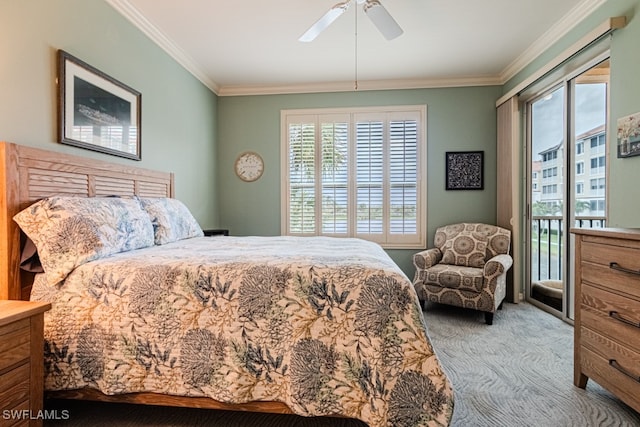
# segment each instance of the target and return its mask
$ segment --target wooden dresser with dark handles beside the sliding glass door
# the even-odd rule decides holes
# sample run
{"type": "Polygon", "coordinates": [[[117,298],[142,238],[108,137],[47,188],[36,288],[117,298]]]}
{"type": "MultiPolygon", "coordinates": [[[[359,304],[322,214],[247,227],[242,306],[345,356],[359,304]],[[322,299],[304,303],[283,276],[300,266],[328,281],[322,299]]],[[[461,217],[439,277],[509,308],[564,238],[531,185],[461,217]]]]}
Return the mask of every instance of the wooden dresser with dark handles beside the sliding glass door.
{"type": "Polygon", "coordinates": [[[640,229],[576,236],[574,384],[589,378],[640,412],[640,229]]]}

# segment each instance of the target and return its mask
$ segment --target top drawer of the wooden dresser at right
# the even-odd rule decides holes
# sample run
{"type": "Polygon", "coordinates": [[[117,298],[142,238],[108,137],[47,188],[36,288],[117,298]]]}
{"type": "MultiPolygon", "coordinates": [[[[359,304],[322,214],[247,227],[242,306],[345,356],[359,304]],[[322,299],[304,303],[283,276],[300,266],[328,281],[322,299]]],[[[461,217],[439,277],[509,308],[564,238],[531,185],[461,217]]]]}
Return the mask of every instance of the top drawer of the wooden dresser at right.
{"type": "Polygon", "coordinates": [[[581,257],[582,281],[640,298],[640,249],[583,242],[581,257]]]}

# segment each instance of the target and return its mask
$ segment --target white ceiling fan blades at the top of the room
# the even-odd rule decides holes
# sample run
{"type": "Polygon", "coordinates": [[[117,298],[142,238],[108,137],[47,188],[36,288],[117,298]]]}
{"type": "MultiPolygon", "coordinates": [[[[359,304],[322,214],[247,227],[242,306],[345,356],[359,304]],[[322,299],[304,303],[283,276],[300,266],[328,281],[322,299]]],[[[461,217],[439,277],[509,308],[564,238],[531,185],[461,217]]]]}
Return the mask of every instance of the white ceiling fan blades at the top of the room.
{"type": "Polygon", "coordinates": [[[387,40],[393,40],[403,33],[402,28],[400,28],[379,0],[344,0],[329,9],[327,13],[318,19],[298,40],[301,42],[313,41],[321,32],[329,27],[333,21],[346,12],[353,3],[364,3],[362,6],[364,12],[387,40]]]}

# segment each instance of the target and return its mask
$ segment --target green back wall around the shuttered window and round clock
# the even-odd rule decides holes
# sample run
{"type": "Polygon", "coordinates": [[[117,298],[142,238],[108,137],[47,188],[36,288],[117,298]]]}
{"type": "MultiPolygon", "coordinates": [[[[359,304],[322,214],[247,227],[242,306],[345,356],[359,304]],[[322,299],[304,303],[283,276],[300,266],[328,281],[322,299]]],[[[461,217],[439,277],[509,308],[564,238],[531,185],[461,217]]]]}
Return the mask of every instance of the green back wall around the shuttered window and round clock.
{"type": "MultiPolygon", "coordinates": [[[[296,108],[427,105],[427,229],[458,221],[496,220],[496,109],[500,87],[220,97],[218,182],[220,224],[234,235],[280,234],[280,111],[296,108]],[[237,178],[238,154],[265,161],[258,181],[237,178]],[[483,150],[484,190],[445,191],[445,152],[483,150]]],[[[431,246],[431,244],[429,245],[431,246]]],[[[416,250],[389,250],[409,276],[416,250]]]]}

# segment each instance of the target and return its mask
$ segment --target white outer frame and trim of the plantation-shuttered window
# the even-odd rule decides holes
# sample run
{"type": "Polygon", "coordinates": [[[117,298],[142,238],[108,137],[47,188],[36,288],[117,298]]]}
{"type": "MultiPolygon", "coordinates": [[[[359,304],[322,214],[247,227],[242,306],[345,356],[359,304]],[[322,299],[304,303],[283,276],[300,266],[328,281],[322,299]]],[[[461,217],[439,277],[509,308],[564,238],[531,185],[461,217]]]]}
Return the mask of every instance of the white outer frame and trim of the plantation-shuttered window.
{"type": "MultiPolygon", "coordinates": [[[[394,240],[388,240],[388,233],[385,234],[384,241],[379,241],[371,236],[357,234],[355,228],[352,227],[349,237],[359,237],[365,240],[371,240],[379,243],[385,249],[423,249],[427,243],[427,106],[426,105],[401,105],[401,106],[382,106],[382,107],[354,107],[354,108],[318,108],[318,109],[295,109],[295,110],[281,110],[280,111],[280,174],[281,174],[281,188],[280,188],[280,233],[282,235],[287,234],[289,223],[289,207],[288,207],[288,194],[289,194],[289,158],[288,158],[288,120],[289,116],[305,116],[305,115],[341,115],[349,114],[351,116],[350,137],[355,137],[355,117],[358,114],[397,114],[402,112],[417,112],[420,117],[418,123],[418,147],[417,147],[417,196],[418,196],[418,212],[416,218],[417,237],[411,238],[412,241],[408,241],[407,238],[402,238],[401,235],[394,235],[394,240]]],[[[350,141],[350,150],[354,150],[355,144],[350,141]]],[[[355,178],[351,174],[349,182],[350,193],[355,188],[355,178]]],[[[386,206],[388,203],[385,204],[386,206]]],[[[349,215],[350,219],[353,216],[349,215]]],[[[352,224],[350,224],[353,226],[352,224]]],[[[317,233],[317,235],[327,235],[317,233]]]]}

